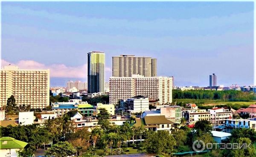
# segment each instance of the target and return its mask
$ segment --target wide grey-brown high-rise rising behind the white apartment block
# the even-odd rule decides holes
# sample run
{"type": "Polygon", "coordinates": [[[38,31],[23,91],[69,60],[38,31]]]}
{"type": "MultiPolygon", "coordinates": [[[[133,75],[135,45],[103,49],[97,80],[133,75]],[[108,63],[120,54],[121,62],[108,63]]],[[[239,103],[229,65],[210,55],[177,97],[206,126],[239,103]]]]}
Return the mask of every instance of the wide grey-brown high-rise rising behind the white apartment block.
{"type": "Polygon", "coordinates": [[[134,55],[112,57],[113,77],[131,77],[133,74],[156,77],[157,59],[151,57],[135,57],[134,55]]]}

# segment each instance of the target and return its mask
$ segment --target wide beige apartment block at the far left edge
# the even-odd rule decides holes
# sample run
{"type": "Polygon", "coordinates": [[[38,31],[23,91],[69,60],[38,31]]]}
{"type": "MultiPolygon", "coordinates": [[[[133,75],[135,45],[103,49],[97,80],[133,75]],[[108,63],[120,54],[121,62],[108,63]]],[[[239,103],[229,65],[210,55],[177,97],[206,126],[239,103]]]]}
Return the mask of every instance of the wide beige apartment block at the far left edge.
{"type": "Polygon", "coordinates": [[[6,106],[12,95],[17,106],[49,106],[49,80],[49,69],[23,70],[17,66],[5,66],[0,71],[0,107],[6,106]]]}

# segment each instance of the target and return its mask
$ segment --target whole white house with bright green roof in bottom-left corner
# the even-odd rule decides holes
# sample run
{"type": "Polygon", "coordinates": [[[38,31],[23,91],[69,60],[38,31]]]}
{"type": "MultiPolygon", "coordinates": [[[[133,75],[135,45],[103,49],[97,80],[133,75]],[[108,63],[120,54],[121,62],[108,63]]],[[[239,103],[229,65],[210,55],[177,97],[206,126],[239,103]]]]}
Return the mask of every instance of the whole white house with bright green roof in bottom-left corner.
{"type": "Polygon", "coordinates": [[[17,151],[23,149],[28,143],[15,140],[12,137],[0,138],[0,156],[1,157],[18,157],[17,151]]]}

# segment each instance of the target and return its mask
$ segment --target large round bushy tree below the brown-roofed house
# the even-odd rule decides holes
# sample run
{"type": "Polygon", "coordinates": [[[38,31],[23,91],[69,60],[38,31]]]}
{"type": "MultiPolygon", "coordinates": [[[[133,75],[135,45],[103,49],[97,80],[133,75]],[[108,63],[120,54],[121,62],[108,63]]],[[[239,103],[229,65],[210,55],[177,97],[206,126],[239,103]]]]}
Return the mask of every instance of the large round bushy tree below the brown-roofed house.
{"type": "Polygon", "coordinates": [[[171,153],[174,151],[176,141],[169,131],[151,132],[145,140],[145,148],[148,153],[171,153]]]}

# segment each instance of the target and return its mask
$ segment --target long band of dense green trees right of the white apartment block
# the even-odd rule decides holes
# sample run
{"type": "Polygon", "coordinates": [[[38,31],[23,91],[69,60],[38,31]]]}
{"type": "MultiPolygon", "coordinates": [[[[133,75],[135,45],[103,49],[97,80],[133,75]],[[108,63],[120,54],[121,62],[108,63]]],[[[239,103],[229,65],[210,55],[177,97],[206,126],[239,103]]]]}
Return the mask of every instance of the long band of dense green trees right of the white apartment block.
{"type": "Polygon", "coordinates": [[[256,100],[256,94],[253,92],[243,92],[236,90],[172,90],[173,99],[210,99],[210,100],[226,100],[226,101],[250,101],[256,100]]]}

